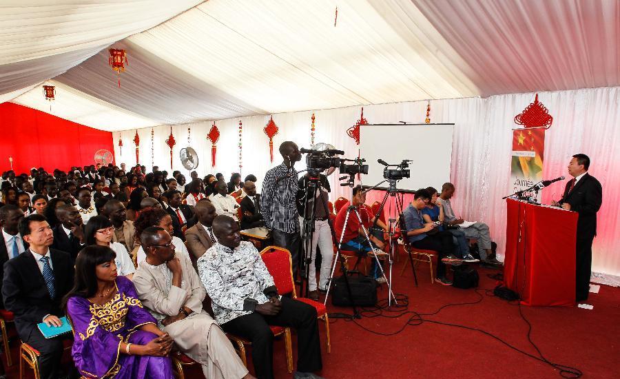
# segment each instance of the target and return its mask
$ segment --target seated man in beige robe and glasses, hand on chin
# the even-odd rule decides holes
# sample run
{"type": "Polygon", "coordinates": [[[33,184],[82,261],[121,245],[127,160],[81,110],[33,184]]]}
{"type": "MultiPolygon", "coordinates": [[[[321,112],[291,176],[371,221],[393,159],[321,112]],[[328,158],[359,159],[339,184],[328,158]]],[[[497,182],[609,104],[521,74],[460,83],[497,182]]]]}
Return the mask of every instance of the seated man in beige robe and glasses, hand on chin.
{"type": "Polygon", "coordinates": [[[226,334],[203,311],[205,288],[189,257],[175,254],[172,236],[161,227],[148,227],[140,240],[146,259],[134,285],[158,327],[183,354],[202,365],[205,378],[253,378],[226,334]]]}

